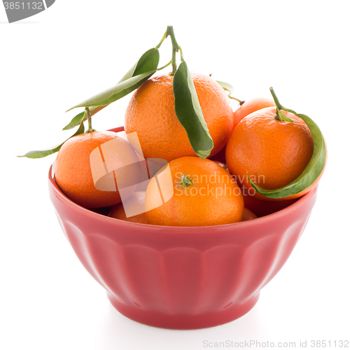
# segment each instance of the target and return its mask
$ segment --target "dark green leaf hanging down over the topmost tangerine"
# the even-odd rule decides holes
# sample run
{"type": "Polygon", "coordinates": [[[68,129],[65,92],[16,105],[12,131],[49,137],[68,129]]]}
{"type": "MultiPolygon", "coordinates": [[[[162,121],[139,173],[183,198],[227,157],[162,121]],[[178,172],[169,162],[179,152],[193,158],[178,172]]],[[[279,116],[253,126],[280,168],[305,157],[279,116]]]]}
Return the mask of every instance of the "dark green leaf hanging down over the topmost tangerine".
{"type": "Polygon", "coordinates": [[[185,61],[174,74],[173,91],[176,117],[185,128],[193,151],[202,159],[209,157],[214,144],[185,61]]]}

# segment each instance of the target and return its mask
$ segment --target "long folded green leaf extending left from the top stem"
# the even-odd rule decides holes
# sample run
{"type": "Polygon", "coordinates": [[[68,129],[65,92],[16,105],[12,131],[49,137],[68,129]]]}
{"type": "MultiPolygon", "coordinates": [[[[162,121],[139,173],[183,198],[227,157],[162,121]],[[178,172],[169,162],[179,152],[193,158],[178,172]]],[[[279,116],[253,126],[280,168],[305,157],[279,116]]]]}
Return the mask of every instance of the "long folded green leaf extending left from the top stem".
{"type": "MultiPolygon", "coordinates": [[[[96,94],[90,99],[73,106],[71,109],[78,107],[90,107],[90,106],[106,106],[112,102],[121,99],[122,97],[130,94],[142,85],[148,78],[157,71],[159,63],[159,51],[158,49],[151,49],[141,56],[139,61],[132,66],[125,76],[120,80],[120,82],[113,87],[96,94]],[[148,70],[146,70],[148,69],[148,70]]],[[[71,111],[69,109],[68,111],[71,111]]]]}

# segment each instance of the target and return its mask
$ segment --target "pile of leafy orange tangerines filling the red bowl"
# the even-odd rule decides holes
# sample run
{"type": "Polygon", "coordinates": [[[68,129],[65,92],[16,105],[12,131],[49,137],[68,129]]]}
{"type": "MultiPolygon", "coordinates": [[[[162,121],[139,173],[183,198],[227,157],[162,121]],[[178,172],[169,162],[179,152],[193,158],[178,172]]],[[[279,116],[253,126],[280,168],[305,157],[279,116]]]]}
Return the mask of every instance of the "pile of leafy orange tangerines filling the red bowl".
{"type": "Polygon", "coordinates": [[[257,218],[286,207],[314,188],[326,159],[317,125],[281,106],[272,88],[273,99],[239,101],[234,111],[228,84],[189,71],[172,27],[162,40],[167,36],[173,44],[172,72],[153,76],[159,70],[151,67],[159,44],[141,57],[113,93],[78,105],[85,108],[73,123],[80,131],[60,146],[55,160],[55,180],[62,193],[87,209],[108,208],[108,215],[120,220],[200,226],[257,218]],[[174,57],[179,51],[178,68],[174,57]],[[141,152],[125,134],[98,132],[91,126],[94,113],[131,90],[124,128],[125,134],[137,134],[141,152]],[[89,128],[82,132],[85,120],[89,128]],[[118,144],[113,165],[108,165],[109,180],[116,189],[100,190],[93,179],[91,154],[111,140],[118,144]],[[128,200],[144,207],[144,212],[127,217],[116,179],[125,176],[137,183],[139,174],[120,175],[117,169],[141,159],[147,165],[148,159],[155,158],[167,164],[146,188],[129,186],[128,200]],[[169,174],[171,181],[166,179],[169,174]],[[256,208],[258,216],[248,207],[256,208]]]}

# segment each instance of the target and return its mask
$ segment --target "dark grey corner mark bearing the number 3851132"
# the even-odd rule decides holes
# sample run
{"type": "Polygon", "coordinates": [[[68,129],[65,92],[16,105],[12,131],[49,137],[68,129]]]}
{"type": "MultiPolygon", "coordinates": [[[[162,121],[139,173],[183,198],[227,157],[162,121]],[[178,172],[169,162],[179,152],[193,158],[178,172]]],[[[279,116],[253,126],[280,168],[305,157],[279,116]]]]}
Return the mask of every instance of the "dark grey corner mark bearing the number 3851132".
{"type": "Polygon", "coordinates": [[[55,0],[3,0],[8,22],[24,20],[52,6],[55,0]]]}

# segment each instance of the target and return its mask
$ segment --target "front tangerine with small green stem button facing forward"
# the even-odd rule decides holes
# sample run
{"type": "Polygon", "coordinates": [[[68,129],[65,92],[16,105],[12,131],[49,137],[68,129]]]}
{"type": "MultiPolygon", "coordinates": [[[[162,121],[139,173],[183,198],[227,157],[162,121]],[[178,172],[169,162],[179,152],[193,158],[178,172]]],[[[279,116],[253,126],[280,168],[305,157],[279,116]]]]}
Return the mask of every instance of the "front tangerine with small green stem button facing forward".
{"type": "Polygon", "coordinates": [[[237,182],[223,167],[212,160],[183,157],[151,179],[145,207],[153,225],[207,226],[241,221],[244,201],[237,182]],[[168,200],[158,206],[160,191],[168,200]]]}

